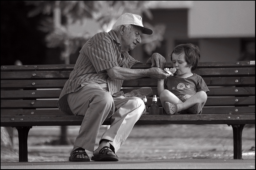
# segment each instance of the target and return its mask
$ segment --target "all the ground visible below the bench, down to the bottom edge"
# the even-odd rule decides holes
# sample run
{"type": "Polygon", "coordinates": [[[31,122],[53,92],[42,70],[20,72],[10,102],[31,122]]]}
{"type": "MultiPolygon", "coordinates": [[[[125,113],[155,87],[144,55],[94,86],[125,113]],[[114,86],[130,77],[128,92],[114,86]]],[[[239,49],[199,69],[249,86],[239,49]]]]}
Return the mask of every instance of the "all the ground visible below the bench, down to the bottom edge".
{"type": "MultiPolygon", "coordinates": [[[[79,126],[68,127],[71,142],[78,131],[79,126]]],[[[59,126],[33,127],[28,138],[29,162],[19,163],[15,131],[14,150],[1,146],[1,169],[255,169],[255,126],[245,127],[243,131],[244,160],[233,160],[232,127],[227,125],[135,126],[117,152],[118,162],[67,162],[72,145],[49,145],[52,140],[59,139],[59,132],[59,126]]],[[[88,155],[91,157],[92,153],[88,155]]]]}

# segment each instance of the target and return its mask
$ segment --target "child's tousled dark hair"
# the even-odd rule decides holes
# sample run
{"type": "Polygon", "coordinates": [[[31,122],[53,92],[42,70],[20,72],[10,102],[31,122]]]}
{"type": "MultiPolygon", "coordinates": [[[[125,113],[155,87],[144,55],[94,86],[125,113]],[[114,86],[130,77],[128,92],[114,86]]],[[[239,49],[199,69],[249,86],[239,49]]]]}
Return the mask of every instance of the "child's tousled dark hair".
{"type": "Polygon", "coordinates": [[[169,55],[171,61],[173,53],[176,55],[184,53],[186,62],[192,66],[191,71],[197,68],[200,59],[200,51],[197,45],[191,43],[177,45],[169,55]]]}

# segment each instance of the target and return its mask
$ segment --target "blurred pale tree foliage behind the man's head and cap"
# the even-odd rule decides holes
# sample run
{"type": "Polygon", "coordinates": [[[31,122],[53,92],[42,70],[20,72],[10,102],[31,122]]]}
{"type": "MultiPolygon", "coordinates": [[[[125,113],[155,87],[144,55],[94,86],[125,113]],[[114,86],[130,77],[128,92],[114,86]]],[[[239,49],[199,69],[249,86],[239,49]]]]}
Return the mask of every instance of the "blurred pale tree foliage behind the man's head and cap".
{"type": "MultiPolygon", "coordinates": [[[[147,8],[148,1],[24,1],[26,5],[34,8],[28,13],[29,17],[45,14],[46,17],[38,27],[46,32],[46,45],[49,48],[62,47],[61,60],[69,64],[69,57],[81,48],[85,42],[93,36],[89,29],[84,32],[72,34],[69,26],[73,23],[83,23],[86,19],[92,19],[100,25],[100,31],[110,31],[118,17],[125,12],[138,15],[144,14],[152,18],[152,13],[147,8]]],[[[161,46],[164,25],[144,26],[152,28],[154,34],[142,38],[142,44],[147,54],[152,54],[157,47],[161,46]]]]}

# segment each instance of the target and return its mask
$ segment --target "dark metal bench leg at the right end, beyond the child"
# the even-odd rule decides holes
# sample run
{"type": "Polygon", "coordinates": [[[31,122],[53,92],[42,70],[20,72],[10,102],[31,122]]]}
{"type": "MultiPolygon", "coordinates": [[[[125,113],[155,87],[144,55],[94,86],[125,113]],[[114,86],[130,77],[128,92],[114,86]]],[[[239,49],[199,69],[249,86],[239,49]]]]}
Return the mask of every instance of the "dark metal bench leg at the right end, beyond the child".
{"type": "Polygon", "coordinates": [[[232,125],[234,139],[234,160],[242,160],[242,132],[245,125],[232,125]]]}

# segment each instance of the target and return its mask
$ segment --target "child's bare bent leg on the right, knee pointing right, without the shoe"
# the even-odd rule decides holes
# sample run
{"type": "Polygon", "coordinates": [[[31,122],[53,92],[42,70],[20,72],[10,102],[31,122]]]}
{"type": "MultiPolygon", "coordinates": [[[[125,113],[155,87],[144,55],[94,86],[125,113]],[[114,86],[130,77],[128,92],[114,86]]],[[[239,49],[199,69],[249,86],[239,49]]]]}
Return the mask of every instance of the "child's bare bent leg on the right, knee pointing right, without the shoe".
{"type": "Polygon", "coordinates": [[[177,104],[178,112],[180,112],[182,110],[186,110],[186,109],[194,106],[196,103],[201,103],[200,110],[202,110],[202,108],[205,105],[206,100],[207,100],[207,94],[204,91],[197,92],[196,94],[191,96],[189,99],[187,99],[185,102],[177,104]]]}

